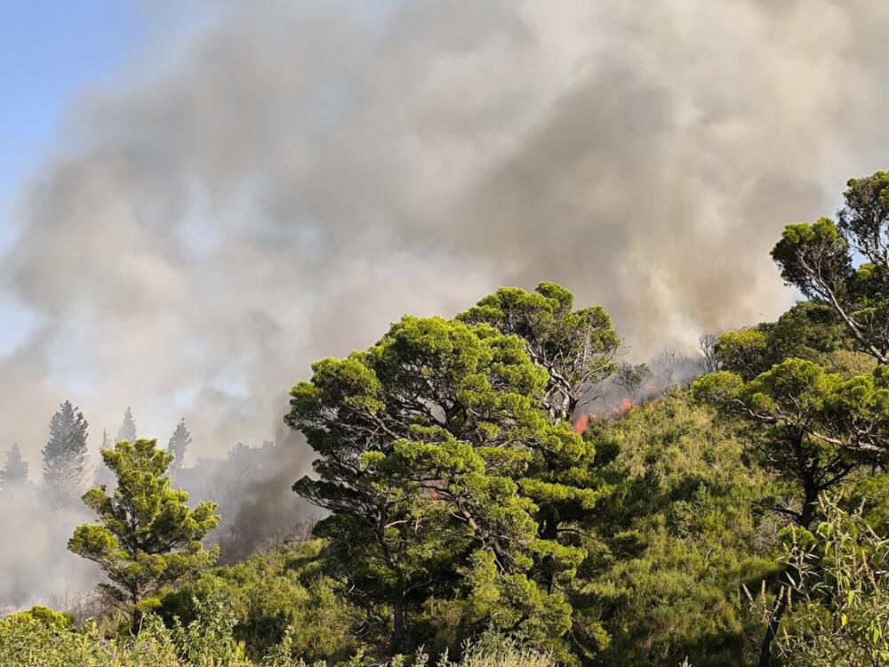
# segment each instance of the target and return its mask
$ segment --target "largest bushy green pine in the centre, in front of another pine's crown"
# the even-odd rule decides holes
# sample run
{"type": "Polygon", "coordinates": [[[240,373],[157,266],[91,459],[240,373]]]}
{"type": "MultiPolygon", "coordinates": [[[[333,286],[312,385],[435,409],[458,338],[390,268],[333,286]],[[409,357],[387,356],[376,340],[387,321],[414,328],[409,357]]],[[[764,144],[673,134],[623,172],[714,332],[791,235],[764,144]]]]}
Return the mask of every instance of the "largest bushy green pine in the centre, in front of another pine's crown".
{"type": "Polygon", "coordinates": [[[404,317],[369,350],[313,369],[287,422],[319,455],[317,475],[294,489],[331,511],[316,534],[366,623],[403,650],[411,618],[435,599],[474,629],[509,619],[498,627],[570,659],[563,591],[585,550],[541,534],[539,521],[557,504],[589,512],[596,494],[576,482],[593,448],[552,420],[549,375],[525,341],[404,317]],[[481,606],[466,573],[499,601],[481,606]]]}

